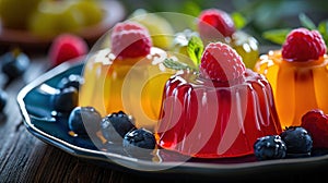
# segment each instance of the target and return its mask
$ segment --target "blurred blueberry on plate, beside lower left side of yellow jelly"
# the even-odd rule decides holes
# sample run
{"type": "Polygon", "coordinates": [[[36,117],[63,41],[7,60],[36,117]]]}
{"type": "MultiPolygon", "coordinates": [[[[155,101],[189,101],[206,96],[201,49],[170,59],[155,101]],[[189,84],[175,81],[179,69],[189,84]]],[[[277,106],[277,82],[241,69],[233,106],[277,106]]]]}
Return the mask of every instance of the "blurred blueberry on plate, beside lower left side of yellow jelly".
{"type": "Polygon", "coordinates": [[[70,113],[78,106],[79,94],[77,88],[68,87],[52,95],[50,99],[55,111],[70,113]]]}

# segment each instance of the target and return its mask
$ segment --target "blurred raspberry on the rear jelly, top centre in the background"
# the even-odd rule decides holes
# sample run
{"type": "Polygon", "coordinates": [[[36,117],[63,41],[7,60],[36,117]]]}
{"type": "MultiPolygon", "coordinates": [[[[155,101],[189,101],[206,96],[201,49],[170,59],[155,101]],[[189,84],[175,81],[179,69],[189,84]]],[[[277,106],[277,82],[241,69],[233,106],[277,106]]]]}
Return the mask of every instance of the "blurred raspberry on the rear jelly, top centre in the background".
{"type": "Polygon", "coordinates": [[[215,33],[213,32],[218,30],[224,37],[231,37],[236,30],[231,16],[226,12],[216,9],[208,9],[201,12],[198,29],[202,37],[214,36],[215,33]]]}

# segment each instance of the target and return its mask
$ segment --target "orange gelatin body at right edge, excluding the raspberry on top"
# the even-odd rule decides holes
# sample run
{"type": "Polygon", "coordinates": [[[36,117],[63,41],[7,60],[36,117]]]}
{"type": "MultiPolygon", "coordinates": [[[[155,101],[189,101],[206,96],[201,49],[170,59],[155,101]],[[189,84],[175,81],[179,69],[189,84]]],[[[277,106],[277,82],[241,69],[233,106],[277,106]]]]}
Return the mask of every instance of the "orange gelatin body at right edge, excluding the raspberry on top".
{"type": "Polygon", "coordinates": [[[301,118],[312,109],[328,112],[328,59],[290,62],[281,51],[261,56],[255,71],[267,76],[273,90],[282,127],[301,125],[301,118]]]}

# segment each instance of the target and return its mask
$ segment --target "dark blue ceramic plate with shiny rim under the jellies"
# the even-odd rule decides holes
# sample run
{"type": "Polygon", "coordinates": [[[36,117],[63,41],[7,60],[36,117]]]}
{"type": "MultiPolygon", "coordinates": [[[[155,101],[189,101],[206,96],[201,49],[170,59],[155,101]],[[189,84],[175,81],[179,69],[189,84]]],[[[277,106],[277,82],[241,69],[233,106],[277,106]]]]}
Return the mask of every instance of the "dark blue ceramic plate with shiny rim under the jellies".
{"type": "MultiPolygon", "coordinates": [[[[43,87],[56,87],[59,81],[70,74],[81,74],[81,62],[66,62],[26,85],[17,96],[17,102],[28,132],[63,151],[85,158],[102,166],[117,168],[155,176],[176,179],[246,179],[270,175],[272,172],[293,174],[321,170],[328,164],[328,155],[308,158],[256,161],[254,156],[232,159],[188,159],[181,161],[179,155],[163,149],[150,158],[136,158],[126,155],[120,147],[99,150],[87,137],[69,135],[67,118],[54,117],[50,109],[50,95],[43,87]],[[259,173],[260,172],[260,173],[259,173]],[[237,175],[237,176],[236,176],[237,175]]],[[[105,148],[105,147],[104,147],[105,148]]]]}

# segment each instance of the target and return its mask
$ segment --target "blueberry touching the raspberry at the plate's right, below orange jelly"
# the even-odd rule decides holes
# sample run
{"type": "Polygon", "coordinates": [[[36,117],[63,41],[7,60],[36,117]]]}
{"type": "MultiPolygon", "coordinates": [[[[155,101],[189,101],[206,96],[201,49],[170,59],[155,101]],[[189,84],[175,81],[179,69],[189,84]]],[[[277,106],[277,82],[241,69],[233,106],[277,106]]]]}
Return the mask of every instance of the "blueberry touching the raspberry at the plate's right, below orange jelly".
{"type": "Polygon", "coordinates": [[[290,126],[286,127],[281,134],[281,139],[286,145],[288,156],[291,157],[306,157],[311,155],[313,141],[311,135],[304,127],[290,126]]]}

